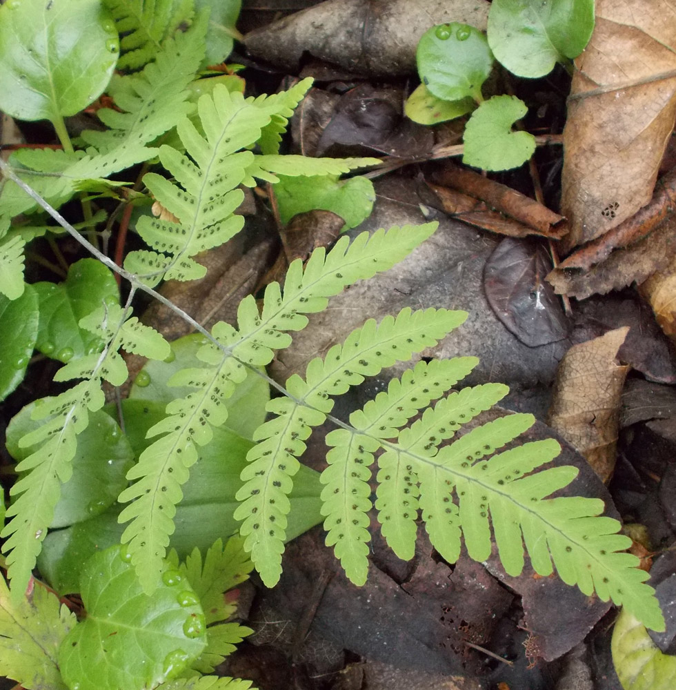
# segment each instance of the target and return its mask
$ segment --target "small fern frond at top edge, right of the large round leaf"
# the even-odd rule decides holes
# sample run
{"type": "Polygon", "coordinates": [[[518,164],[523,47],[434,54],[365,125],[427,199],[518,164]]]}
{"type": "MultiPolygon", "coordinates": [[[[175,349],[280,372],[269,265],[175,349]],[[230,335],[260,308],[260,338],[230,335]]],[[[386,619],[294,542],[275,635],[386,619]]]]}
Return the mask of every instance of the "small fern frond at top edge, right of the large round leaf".
{"type": "Polygon", "coordinates": [[[192,19],[192,0],[103,0],[122,34],[117,68],[136,70],[150,62],[162,42],[192,19]]]}

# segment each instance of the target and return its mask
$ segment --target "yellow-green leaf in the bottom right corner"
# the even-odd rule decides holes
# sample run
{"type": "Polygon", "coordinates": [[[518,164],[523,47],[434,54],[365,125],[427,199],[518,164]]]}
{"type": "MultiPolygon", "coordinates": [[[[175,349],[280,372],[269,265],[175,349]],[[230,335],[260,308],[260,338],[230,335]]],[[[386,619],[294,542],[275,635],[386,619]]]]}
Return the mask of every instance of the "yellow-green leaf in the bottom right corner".
{"type": "Polygon", "coordinates": [[[627,611],[615,621],[613,665],[624,690],[671,690],[676,678],[676,656],[664,654],[648,631],[627,611]]]}

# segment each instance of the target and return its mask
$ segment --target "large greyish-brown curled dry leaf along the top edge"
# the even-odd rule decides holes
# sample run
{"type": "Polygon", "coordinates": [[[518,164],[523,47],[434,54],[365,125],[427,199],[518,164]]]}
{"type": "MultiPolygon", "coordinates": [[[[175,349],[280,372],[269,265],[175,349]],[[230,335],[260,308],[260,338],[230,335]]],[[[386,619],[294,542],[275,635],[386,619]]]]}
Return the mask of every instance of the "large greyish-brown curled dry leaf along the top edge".
{"type": "Polygon", "coordinates": [[[459,21],[486,29],[486,0],[328,0],[244,37],[247,50],[296,71],[304,52],[365,75],[415,72],[415,50],[435,24],[459,21]]]}

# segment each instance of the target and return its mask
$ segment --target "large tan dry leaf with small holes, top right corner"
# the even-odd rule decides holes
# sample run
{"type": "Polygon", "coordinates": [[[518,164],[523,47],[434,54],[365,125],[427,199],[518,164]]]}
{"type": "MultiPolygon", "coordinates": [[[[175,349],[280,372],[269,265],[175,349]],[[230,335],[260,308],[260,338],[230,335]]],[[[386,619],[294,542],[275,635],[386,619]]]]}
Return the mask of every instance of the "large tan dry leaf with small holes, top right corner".
{"type": "Polygon", "coordinates": [[[598,0],[575,66],[561,181],[568,247],[603,235],[653,195],[676,114],[676,4],[598,0]]]}

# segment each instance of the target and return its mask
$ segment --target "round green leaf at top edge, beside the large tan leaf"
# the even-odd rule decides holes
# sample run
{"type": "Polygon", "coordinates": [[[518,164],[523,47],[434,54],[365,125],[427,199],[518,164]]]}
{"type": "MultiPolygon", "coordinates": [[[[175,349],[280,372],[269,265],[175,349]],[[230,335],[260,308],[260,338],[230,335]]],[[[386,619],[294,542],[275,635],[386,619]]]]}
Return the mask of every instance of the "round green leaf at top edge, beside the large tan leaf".
{"type": "Polygon", "coordinates": [[[519,77],[544,77],[577,57],[594,30],[594,0],[493,0],[488,45],[519,77]]]}

